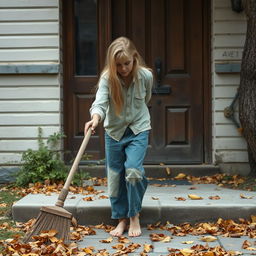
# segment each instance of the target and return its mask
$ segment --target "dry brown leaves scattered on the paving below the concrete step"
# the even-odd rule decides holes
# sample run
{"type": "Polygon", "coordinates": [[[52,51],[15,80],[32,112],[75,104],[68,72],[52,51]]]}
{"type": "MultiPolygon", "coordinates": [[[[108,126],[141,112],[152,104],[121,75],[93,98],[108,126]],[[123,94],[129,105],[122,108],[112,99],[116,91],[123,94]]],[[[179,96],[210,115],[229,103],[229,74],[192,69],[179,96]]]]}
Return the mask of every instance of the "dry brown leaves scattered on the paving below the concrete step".
{"type": "MultiPolygon", "coordinates": [[[[33,225],[33,221],[30,220],[26,224],[18,224],[17,229],[27,232],[29,228],[33,225]]],[[[4,227],[9,228],[9,227],[4,227]]],[[[63,243],[55,237],[57,231],[49,230],[42,232],[39,236],[34,237],[33,242],[28,244],[22,243],[22,238],[16,235],[12,239],[7,239],[1,241],[3,247],[1,256],[36,256],[36,255],[52,255],[52,256],[72,256],[72,255],[94,255],[94,256],[105,256],[105,255],[129,255],[131,253],[136,253],[140,248],[140,253],[137,252],[136,255],[146,256],[148,253],[153,252],[152,244],[139,244],[129,241],[127,237],[118,238],[118,243],[114,243],[112,248],[116,252],[110,254],[106,249],[97,249],[93,246],[88,246],[86,248],[79,248],[77,245],[78,241],[84,239],[85,236],[95,235],[97,229],[103,229],[109,232],[113,229],[110,225],[97,225],[92,227],[77,226],[76,228],[71,227],[70,230],[70,244],[63,243]]],[[[152,242],[162,242],[170,243],[173,236],[186,236],[195,235],[201,236],[202,242],[204,244],[195,244],[189,249],[175,249],[168,248],[169,256],[232,256],[239,255],[240,252],[237,251],[225,251],[220,246],[211,247],[209,244],[217,240],[216,236],[224,237],[241,237],[248,236],[248,238],[256,239],[256,216],[252,216],[251,220],[240,219],[239,223],[233,220],[223,220],[219,219],[216,223],[198,223],[191,225],[189,223],[183,223],[180,225],[172,225],[170,223],[161,224],[156,223],[154,225],[148,225],[148,230],[152,231],[149,238],[152,242]],[[162,232],[161,232],[162,231],[162,232]],[[163,231],[165,231],[163,233],[163,231]],[[169,232],[166,232],[169,231],[169,232]],[[160,233],[159,233],[160,232],[160,233]],[[168,234],[167,234],[168,233],[168,234]]],[[[104,240],[100,240],[101,243],[113,243],[112,237],[104,240]]],[[[183,242],[184,244],[192,244],[193,241],[183,242]]],[[[248,240],[243,242],[241,249],[247,249],[248,252],[256,251],[256,244],[252,244],[248,240]]]]}

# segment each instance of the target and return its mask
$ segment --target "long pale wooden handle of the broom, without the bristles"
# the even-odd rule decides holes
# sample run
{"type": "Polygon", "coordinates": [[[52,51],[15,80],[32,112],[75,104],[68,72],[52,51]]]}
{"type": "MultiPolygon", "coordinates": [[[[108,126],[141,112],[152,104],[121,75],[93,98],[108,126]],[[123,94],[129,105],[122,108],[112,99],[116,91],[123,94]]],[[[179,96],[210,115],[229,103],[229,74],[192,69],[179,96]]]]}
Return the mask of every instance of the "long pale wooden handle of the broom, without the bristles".
{"type": "Polygon", "coordinates": [[[73,176],[75,175],[75,172],[78,168],[79,162],[80,162],[80,160],[83,156],[83,153],[85,151],[85,148],[86,148],[86,146],[89,142],[89,139],[91,137],[91,133],[92,133],[92,130],[91,130],[91,128],[89,128],[86,135],[84,136],[83,142],[82,142],[82,144],[79,148],[79,151],[76,155],[76,158],[75,158],[75,160],[72,164],[72,167],[69,171],[69,174],[68,174],[68,177],[67,177],[66,182],[64,184],[64,187],[62,188],[62,190],[60,192],[60,195],[58,197],[58,201],[55,204],[56,206],[61,206],[62,207],[64,205],[64,201],[65,201],[65,199],[68,195],[68,190],[69,190],[70,183],[73,179],[73,176]]]}

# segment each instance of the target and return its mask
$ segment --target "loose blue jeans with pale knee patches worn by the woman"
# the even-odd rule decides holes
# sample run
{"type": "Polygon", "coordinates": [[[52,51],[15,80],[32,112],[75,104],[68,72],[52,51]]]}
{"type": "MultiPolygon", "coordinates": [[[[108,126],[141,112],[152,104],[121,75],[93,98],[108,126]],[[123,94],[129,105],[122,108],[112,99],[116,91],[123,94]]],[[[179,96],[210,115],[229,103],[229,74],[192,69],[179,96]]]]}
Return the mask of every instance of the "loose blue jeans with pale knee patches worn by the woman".
{"type": "Polygon", "coordinates": [[[127,128],[122,139],[116,141],[105,133],[108,194],[112,218],[130,218],[141,211],[148,181],[143,161],[148,146],[149,131],[134,135],[127,128]]]}

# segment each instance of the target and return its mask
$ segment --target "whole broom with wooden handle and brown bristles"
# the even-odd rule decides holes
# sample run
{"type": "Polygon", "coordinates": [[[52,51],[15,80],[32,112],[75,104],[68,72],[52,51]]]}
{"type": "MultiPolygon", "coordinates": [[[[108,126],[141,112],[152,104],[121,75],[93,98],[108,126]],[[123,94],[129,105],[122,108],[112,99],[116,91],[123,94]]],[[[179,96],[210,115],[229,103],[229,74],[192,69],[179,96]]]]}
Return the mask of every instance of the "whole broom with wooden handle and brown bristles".
{"type": "Polygon", "coordinates": [[[85,135],[80,149],[76,155],[75,161],[72,164],[64,187],[62,188],[58,200],[55,206],[43,206],[40,209],[40,213],[32,226],[31,230],[25,235],[23,241],[27,243],[31,241],[33,236],[39,235],[42,231],[46,230],[56,230],[58,231],[56,237],[63,239],[65,243],[69,242],[69,232],[72,221],[72,214],[63,208],[64,201],[68,195],[68,190],[72,178],[77,170],[78,164],[81,160],[83,152],[88,144],[89,138],[91,136],[91,129],[88,130],[85,135]]]}

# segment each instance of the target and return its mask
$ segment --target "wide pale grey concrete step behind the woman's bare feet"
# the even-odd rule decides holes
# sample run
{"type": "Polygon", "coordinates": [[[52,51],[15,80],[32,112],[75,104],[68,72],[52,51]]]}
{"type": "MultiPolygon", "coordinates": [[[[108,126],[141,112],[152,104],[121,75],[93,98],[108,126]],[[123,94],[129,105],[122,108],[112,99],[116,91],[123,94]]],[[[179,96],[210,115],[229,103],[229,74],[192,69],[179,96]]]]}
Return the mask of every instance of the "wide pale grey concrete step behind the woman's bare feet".
{"type": "MultiPolygon", "coordinates": [[[[256,192],[232,190],[214,184],[176,185],[157,187],[150,185],[146,191],[141,212],[141,224],[169,221],[173,224],[183,222],[216,221],[218,218],[249,219],[256,212],[256,192]],[[191,200],[188,195],[196,194],[202,200],[191,200]],[[244,194],[248,199],[241,199],[244,194]],[[219,200],[211,200],[211,196],[219,196],[219,200]],[[177,198],[183,197],[185,201],[177,198]],[[249,199],[251,197],[251,199],[249,199]]],[[[111,207],[109,199],[100,199],[107,195],[106,187],[95,187],[104,190],[98,195],[82,195],[69,193],[65,201],[65,209],[73,214],[81,225],[96,225],[100,223],[114,224],[111,220],[111,207]],[[92,196],[95,200],[85,201],[84,198],[92,196]]],[[[57,194],[29,194],[16,202],[12,207],[15,221],[26,222],[36,218],[42,206],[53,206],[57,194]]]]}

